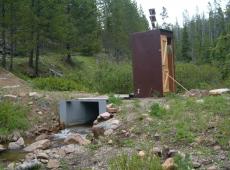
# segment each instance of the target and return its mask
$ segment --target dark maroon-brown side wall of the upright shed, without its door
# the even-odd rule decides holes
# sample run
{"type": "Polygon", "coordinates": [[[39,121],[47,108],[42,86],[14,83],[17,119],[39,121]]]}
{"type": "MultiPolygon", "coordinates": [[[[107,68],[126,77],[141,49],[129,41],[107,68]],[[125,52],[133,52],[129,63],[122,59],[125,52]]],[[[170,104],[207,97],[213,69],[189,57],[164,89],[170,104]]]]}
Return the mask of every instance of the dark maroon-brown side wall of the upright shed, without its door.
{"type": "Polygon", "coordinates": [[[135,96],[151,97],[154,93],[162,96],[160,31],[134,33],[132,47],[135,96]]]}

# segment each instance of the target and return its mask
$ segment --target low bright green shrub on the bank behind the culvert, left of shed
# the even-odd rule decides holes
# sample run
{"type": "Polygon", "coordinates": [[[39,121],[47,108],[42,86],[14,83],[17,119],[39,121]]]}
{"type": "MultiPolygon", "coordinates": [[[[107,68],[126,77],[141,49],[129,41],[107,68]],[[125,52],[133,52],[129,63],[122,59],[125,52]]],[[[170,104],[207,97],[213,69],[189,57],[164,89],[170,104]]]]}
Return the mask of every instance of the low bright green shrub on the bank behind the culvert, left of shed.
{"type": "Polygon", "coordinates": [[[66,78],[47,77],[37,78],[33,80],[36,88],[49,91],[72,91],[72,90],[85,90],[85,88],[77,84],[73,80],[66,78]]]}

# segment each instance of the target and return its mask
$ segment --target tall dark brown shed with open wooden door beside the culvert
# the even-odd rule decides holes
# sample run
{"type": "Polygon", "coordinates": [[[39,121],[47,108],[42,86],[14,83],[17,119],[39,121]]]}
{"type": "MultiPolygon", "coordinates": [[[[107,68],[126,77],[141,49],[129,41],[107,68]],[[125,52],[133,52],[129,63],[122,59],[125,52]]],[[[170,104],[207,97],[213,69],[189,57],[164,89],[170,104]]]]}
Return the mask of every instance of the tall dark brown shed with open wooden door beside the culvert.
{"type": "Polygon", "coordinates": [[[132,49],[135,96],[175,92],[173,33],[163,29],[134,33],[132,49]]]}

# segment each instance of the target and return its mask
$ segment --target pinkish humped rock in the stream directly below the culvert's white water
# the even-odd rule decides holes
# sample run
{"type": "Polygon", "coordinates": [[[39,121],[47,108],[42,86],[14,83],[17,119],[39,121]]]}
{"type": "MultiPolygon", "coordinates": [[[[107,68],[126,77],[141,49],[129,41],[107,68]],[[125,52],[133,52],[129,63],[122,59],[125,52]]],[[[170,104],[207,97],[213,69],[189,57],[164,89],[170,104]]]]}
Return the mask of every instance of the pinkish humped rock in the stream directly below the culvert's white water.
{"type": "Polygon", "coordinates": [[[64,140],[65,144],[79,144],[79,145],[87,145],[90,144],[91,142],[85,138],[83,138],[80,134],[75,133],[71,134],[66,137],[64,140]]]}

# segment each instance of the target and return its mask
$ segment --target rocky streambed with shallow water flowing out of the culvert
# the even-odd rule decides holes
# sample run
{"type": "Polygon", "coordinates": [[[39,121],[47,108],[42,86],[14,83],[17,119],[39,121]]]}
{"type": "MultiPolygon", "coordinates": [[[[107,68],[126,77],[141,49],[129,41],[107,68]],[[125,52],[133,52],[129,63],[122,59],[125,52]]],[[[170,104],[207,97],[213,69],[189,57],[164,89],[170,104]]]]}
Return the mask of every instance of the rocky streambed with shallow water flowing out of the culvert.
{"type": "Polygon", "coordinates": [[[91,143],[89,139],[93,140],[98,135],[110,135],[119,125],[119,120],[113,118],[112,113],[106,112],[98,116],[93,126],[70,127],[29,139],[18,135],[13,142],[0,145],[0,163],[8,169],[17,170],[35,166],[57,169],[63,159],[85,153],[87,148],[84,146],[91,143]]]}

